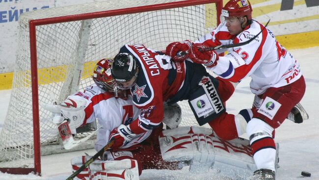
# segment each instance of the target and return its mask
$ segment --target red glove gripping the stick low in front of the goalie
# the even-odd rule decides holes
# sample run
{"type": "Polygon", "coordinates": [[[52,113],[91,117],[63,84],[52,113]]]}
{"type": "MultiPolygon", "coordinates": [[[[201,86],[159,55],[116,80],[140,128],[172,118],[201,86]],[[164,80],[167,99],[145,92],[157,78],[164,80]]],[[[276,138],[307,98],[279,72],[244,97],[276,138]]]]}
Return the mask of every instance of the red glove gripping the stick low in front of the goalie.
{"type": "Polygon", "coordinates": [[[118,149],[130,142],[135,136],[136,134],[132,132],[129,126],[121,124],[119,127],[111,131],[108,140],[113,137],[114,144],[112,146],[112,149],[118,149]]]}

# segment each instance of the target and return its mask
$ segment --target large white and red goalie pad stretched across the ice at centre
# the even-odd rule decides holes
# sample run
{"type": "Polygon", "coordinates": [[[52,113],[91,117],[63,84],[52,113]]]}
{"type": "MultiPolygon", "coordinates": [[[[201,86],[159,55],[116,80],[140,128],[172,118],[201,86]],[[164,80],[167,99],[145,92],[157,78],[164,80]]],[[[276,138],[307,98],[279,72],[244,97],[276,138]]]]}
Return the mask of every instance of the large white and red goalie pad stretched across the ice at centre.
{"type": "Polygon", "coordinates": [[[212,129],[180,127],[164,130],[159,140],[164,160],[191,160],[189,168],[193,172],[214,171],[220,176],[244,179],[257,170],[247,139],[225,141],[212,129]]]}

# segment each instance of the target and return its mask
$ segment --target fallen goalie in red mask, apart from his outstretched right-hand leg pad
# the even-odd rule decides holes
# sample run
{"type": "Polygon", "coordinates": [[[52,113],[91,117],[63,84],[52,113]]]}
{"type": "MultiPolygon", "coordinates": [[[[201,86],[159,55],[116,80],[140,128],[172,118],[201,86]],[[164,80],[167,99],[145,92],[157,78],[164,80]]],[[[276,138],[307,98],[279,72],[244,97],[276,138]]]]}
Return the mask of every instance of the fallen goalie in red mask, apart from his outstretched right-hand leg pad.
{"type": "MultiPolygon", "coordinates": [[[[77,133],[77,128],[96,119],[101,126],[95,143],[97,151],[106,145],[110,132],[114,129],[127,138],[122,146],[105,152],[101,159],[94,161],[77,177],[81,180],[111,180],[116,177],[138,180],[142,169],[177,169],[177,162],[164,162],[160,156],[158,136],[161,128],[131,138],[127,125],[137,119],[141,112],[134,106],[128,90],[114,90],[116,87],[110,73],[110,63],[111,60],[102,59],[94,67],[93,80],[96,85],[87,87],[84,92],[68,96],[60,105],[42,105],[53,112],[53,122],[58,125],[66,149],[81,143],[73,140],[72,134],[77,133]],[[145,142],[140,144],[144,140],[145,142]]],[[[167,112],[164,121],[170,128],[177,127],[181,113],[179,106],[173,105],[164,109],[167,112]],[[168,121],[171,118],[174,121],[168,121]]],[[[90,156],[73,158],[73,170],[79,169],[89,158],[90,156]]]]}

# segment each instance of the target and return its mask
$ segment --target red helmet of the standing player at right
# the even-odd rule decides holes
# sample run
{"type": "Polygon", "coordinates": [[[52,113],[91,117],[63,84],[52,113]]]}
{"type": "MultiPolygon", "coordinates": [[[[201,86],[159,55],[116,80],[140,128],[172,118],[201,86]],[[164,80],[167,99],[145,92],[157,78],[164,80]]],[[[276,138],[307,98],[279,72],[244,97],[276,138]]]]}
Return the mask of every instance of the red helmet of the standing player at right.
{"type": "Polygon", "coordinates": [[[252,11],[248,0],[230,0],[223,7],[221,15],[225,17],[247,16],[247,20],[251,20],[252,11]]]}

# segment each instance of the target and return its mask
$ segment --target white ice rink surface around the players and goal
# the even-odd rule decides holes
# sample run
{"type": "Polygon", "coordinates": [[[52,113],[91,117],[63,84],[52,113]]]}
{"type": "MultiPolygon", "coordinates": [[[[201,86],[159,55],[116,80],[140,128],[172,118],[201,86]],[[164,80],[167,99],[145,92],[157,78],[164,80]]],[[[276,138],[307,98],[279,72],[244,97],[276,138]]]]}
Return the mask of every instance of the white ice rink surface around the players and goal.
{"type": "MultiPolygon", "coordinates": [[[[306,79],[306,93],[301,104],[309,120],[295,124],[286,120],[276,129],[275,141],[279,143],[279,165],[276,180],[319,180],[319,47],[290,50],[301,66],[306,79]],[[301,171],[311,173],[302,177],[301,171]]],[[[237,114],[250,108],[254,95],[249,90],[249,78],[243,80],[234,95],[227,101],[227,111],[237,114]]],[[[0,90],[0,128],[8,107],[10,90],[0,90]]],[[[35,175],[8,175],[0,173],[0,180],[65,180],[71,175],[70,160],[76,156],[94,155],[94,149],[56,154],[41,158],[42,177],[35,175]]],[[[140,180],[226,180],[211,173],[190,174],[187,168],[179,171],[145,170],[140,180]]],[[[227,179],[228,180],[228,179],[227,179]]]]}

